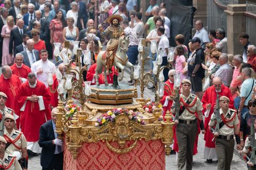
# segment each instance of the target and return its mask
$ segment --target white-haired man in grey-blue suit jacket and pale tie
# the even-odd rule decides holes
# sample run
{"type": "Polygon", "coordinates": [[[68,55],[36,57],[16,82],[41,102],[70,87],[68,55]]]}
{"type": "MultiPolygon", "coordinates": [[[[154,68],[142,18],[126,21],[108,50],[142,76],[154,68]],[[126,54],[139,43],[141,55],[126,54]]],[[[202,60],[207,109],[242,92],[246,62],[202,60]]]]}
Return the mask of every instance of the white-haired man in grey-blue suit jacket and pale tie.
{"type": "Polygon", "coordinates": [[[28,39],[26,51],[22,51],[21,54],[24,56],[23,63],[29,68],[32,64],[39,60],[38,50],[34,50],[35,42],[33,39],[28,39]]]}

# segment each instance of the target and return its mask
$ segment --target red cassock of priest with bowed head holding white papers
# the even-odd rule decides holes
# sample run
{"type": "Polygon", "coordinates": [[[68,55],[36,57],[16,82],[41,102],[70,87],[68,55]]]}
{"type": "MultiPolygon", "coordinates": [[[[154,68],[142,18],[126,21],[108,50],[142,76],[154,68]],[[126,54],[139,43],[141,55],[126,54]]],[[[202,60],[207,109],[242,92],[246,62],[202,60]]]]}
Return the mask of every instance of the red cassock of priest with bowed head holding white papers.
{"type": "Polygon", "coordinates": [[[31,88],[27,81],[19,87],[17,99],[18,103],[21,103],[22,106],[26,102],[25,110],[20,111],[21,132],[23,132],[28,142],[36,142],[38,141],[40,126],[46,122],[46,119],[51,119],[49,112],[51,95],[42,82],[37,80],[36,87],[31,88]],[[38,102],[31,102],[29,100],[26,102],[27,97],[33,94],[43,96],[45,110],[39,110],[38,102]]]}

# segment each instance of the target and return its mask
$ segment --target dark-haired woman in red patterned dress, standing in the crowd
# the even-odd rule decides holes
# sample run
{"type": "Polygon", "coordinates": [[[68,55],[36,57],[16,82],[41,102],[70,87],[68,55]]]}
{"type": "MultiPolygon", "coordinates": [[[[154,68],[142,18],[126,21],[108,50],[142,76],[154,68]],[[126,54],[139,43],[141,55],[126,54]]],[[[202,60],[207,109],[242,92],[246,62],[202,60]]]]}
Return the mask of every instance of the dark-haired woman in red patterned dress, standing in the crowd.
{"type": "Polygon", "coordinates": [[[67,26],[65,18],[63,17],[62,11],[57,11],[54,19],[50,22],[51,30],[51,44],[53,43],[63,43],[62,32],[63,29],[67,26]]]}

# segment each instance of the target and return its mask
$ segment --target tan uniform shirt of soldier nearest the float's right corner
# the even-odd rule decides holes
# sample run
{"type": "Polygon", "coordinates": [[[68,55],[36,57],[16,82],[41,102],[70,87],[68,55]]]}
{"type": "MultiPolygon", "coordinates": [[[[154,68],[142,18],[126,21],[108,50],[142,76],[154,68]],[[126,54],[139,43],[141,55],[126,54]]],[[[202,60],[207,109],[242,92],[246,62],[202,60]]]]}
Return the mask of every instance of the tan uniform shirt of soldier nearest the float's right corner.
{"type": "MultiPolygon", "coordinates": [[[[183,99],[183,101],[185,101],[185,103],[188,101],[189,104],[193,103],[194,99],[196,98],[196,95],[190,93],[188,98],[186,98],[185,95],[183,94],[180,94],[180,98],[183,99]]],[[[182,105],[182,103],[180,102],[180,104],[182,105]]],[[[173,102],[173,105],[174,105],[174,102],[173,102]]],[[[179,116],[179,119],[182,119],[182,120],[195,120],[196,119],[196,115],[195,115],[195,112],[196,111],[202,111],[203,110],[203,106],[202,106],[202,102],[200,101],[199,98],[196,99],[196,102],[194,104],[194,106],[192,107],[188,107],[188,109],[193,112],[194,114],[191,114],[187,109],[185,109],[182,114],[179,116]]],[[[175,113],[175,109],[171,109],[171,112],[172,113],[175,113]]]]}

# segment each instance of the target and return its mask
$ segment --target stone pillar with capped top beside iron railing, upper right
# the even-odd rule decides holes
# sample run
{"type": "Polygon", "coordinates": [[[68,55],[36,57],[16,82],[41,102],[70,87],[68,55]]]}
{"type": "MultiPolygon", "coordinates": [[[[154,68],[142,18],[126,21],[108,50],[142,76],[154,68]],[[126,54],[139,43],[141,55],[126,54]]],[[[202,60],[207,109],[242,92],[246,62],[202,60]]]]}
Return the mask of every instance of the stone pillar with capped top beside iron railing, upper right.
{"type": "Polygon", "coordinates": [[[246,4],[228,5],[227,10],[227,38],[228,53],[242,54],[243,46],[239,43],[238,35],[246,32],[246,17],[243,12],[246,11],[246,4]]]}

